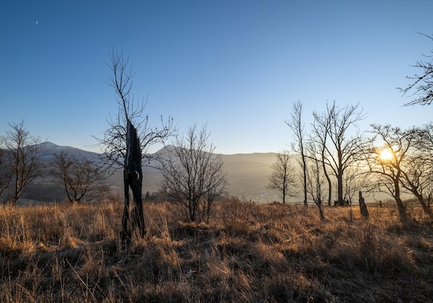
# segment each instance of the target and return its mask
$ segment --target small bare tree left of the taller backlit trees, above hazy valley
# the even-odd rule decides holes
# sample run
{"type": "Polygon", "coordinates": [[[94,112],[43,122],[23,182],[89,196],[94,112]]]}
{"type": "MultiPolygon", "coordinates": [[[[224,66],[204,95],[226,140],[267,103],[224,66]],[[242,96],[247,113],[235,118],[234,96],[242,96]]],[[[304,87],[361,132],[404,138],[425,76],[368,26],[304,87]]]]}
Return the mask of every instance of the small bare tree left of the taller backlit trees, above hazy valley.
{"type": "Polygon", "coordinates": [[[283,203],[286,203],[286,196],[296,196],[294,187],[296,185],[295,168],[292,164],[292,156],[288,151],[279,152],[277,160],[271,165],[273,173],[269,177],[267,186],[270,190],[277,190],[282,194],[283,203]]]}

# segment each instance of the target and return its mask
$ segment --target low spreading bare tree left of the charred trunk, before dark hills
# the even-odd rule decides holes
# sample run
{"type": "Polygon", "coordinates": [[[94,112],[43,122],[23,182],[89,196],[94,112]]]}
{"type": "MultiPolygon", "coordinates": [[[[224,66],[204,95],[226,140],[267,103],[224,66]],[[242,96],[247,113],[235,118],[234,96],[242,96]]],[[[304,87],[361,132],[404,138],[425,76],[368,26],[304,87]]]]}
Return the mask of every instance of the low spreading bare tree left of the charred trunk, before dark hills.
{"type": "Polygon", "coordinates": [[[53,175],[62,183],[68,201],[82,203],[93,201],[107,193],[109,186],[106,169],[92,160],[77,157],[66,152],[55,155],[53,175]]]}

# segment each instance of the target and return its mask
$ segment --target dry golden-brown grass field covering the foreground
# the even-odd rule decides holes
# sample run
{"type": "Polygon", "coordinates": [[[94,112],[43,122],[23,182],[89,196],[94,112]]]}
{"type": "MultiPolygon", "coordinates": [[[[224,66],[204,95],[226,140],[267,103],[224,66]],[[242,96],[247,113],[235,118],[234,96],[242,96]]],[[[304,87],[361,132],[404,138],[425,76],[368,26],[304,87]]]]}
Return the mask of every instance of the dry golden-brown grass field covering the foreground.
{"type": "Polygon", "coordinates": [[[145,205],[120,245],[122,203],[0,208],[1,302],[432,302],[433,226],[396,208],[217,203],[185,223],[145,205]]]}

